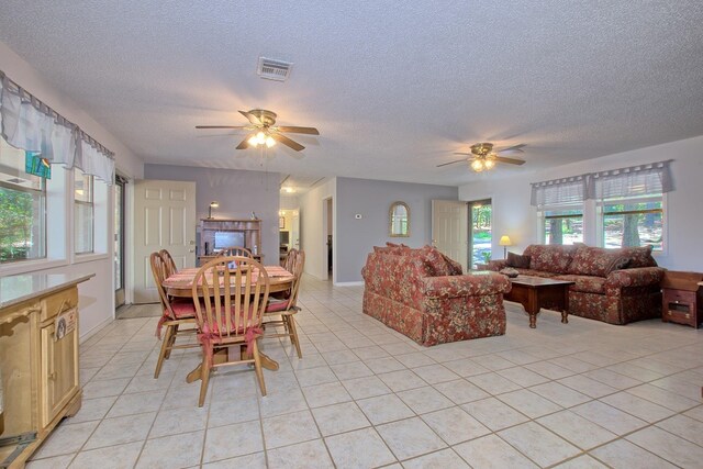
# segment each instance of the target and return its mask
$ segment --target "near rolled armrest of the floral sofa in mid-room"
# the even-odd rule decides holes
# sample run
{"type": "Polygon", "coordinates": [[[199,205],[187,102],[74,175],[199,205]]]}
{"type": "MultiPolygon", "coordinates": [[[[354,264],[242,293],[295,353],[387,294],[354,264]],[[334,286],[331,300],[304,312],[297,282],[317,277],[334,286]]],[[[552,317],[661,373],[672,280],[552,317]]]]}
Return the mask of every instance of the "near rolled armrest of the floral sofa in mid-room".
{"type": "Polygon", "coordinates": [[[426,298],[477,297],[506,293],[510,291],[507,277],[498,273],[425,277],[422,292],[426,298]]]}

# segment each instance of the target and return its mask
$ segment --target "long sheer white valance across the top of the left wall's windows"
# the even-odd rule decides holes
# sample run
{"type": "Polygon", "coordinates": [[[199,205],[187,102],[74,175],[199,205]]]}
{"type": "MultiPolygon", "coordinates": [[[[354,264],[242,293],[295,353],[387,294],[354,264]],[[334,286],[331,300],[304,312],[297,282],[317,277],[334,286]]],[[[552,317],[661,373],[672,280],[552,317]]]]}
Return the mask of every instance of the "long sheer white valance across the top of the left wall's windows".
{"type": "Polygon", "coordinates": [[[0,131],[15,148],[38,152],[49,163],[77,167],[114,181],[112,152],[26,92],[0,71],[0,131]]]}

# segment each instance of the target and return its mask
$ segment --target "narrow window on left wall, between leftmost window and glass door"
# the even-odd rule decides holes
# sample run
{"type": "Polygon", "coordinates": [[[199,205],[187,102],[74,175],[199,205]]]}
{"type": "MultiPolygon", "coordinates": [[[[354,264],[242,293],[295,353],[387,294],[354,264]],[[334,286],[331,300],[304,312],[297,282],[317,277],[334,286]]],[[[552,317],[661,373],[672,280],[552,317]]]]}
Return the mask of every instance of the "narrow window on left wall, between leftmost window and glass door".
{"type": "Polygon", "coordinates": [[[74,170],[74,252],[94,252],[93,177],[74,170]]]}

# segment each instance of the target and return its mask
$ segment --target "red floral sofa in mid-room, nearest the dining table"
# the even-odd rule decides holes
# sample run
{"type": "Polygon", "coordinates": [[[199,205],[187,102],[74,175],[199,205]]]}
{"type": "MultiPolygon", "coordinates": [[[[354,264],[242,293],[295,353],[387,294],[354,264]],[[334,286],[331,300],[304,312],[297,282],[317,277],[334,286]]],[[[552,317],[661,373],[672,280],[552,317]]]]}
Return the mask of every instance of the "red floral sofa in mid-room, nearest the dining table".
{"type": "Polygon", "coordinates": [[[461,275],[461,266],[425,246],[375,247],[361,270],[364,313],[431,346],[505,334],[507,279],[461,275]]]}

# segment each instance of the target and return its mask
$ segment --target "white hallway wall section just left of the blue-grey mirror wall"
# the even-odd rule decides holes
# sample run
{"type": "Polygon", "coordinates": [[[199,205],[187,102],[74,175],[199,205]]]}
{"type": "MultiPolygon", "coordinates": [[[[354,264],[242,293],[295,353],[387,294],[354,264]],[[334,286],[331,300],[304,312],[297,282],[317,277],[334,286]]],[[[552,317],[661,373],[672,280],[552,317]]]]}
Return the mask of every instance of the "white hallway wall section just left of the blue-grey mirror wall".
{"type": "MultiPolygon", "coordinates": [[[[333,226],[336,226],[334,217],[336,216],[336,178],[330,179],[324,183],[313,188],[306,193],[300,196],[300,239],[301,249],[305,252],[305,273],[319,279],[327,279],[326,261],[327,239],[324,236],[326,232],[323,226],[323,206],[324,201],[333,198],[333,226]]],[[[333,253],[337,253],[336,237],[333,237],[333,253]]],[[[336,259],[333,264],[336,263],[336,259]]]]}

